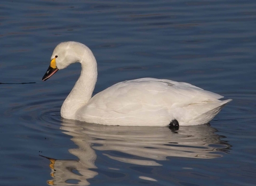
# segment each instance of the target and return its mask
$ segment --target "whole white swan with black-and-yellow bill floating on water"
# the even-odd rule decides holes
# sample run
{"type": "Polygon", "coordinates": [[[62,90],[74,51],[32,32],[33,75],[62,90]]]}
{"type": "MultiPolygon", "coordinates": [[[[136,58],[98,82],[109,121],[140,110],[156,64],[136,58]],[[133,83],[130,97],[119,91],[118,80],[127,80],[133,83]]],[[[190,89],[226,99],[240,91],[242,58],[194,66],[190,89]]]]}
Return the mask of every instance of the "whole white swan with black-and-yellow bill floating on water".
{"type": "Polygon", "coordinates": [[[67,41],[55,47],[42,81],[79,62],[82,71],[61,106],[61,117],[88,123],[126,126],[179,126],[208,123],[232,99],[192,84],[166,79],[123,81],[92,97],[97,62],[84,44],[67,41]]]}

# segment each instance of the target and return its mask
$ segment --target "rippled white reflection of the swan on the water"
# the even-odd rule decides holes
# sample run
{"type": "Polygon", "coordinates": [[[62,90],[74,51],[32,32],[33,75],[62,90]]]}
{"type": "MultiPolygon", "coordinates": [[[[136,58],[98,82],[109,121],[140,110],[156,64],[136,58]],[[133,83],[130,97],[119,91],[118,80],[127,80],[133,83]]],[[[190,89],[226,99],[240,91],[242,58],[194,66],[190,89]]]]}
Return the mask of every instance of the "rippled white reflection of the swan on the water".
{"type": "MultiPolygon", "coordinates": [[[[95,151],[106,158],[127,164],[161,166],[167,157],[217,158],[228,153],[230,145],[220,140],[209,124],[182,126],[178,131],[167,127],[107,126],[62,120],[63,133],[78,146],[69,153],[78,160],[50,159],[50,185],[89,185],[98,175],[95,151]]],[[[109,165],[118,172],[115,164],[109,165]]]]}

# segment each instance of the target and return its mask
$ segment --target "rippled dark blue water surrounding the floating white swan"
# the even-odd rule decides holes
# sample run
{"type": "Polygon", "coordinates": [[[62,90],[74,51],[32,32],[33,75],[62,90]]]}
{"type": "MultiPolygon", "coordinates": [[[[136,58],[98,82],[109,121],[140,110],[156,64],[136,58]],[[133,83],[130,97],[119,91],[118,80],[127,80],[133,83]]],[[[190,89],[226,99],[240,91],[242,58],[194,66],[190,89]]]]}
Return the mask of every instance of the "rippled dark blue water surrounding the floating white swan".
{"type": "Polygon", "coordinates": [[[0,185],[255,185],[255,1],[1,1],[0,185]],[[54,47],[98,61],[94,94],[129,79],[185,81],[233,99],[210,125],[62,119],[79,64],[41,82],[54,47]],[[29,84],[3,84],[25,83],[29,84]]]}

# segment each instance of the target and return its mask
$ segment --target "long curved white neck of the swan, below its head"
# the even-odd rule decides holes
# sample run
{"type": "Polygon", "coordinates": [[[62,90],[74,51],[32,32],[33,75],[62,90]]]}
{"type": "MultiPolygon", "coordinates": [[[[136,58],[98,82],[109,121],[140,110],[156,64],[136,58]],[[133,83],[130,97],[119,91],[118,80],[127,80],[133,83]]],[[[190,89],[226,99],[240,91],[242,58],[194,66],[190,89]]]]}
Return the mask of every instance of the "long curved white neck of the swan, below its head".
{"type": "Polygon", "coordinates": [[[80,62],[82,66],[81,75],[62,104],[60,111],[61,116],[66,119],[75,120],[76,111],[86,105],[91,99],[92,92],[97,82],[97,62],[91,50],[85,51],[78,62],[80,62]]]}

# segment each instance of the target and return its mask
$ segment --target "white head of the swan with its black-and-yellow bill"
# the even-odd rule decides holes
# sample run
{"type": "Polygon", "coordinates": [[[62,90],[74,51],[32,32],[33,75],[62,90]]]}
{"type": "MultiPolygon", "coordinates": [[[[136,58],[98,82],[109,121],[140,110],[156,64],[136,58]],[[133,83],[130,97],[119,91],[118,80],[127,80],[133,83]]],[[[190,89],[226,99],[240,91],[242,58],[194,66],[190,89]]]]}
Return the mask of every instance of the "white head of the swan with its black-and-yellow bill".
{"type": "Polygon", "coordinates": [[[46,81],[58,70],[65,69],[71,63],[81,61],[81,57],[85,53],[84,49],[89,48],[75,41],[63,42],[57,45],[53,50],[50,66],[44,74],[42,81],[46,81]]]}

